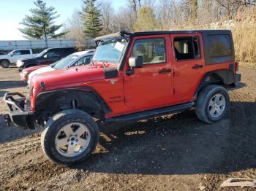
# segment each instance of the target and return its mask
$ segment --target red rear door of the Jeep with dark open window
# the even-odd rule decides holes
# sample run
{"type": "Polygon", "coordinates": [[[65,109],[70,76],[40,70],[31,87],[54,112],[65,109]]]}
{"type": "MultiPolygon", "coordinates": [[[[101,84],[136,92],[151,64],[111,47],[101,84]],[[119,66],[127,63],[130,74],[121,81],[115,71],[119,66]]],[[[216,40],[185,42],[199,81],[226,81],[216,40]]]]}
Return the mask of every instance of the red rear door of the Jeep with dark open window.
{"type": "Polygon", "coordinates": [[[171,35],[174,96],[177,101],[190,101],[205,73],[203,39],[201,34],[171,35]]]}

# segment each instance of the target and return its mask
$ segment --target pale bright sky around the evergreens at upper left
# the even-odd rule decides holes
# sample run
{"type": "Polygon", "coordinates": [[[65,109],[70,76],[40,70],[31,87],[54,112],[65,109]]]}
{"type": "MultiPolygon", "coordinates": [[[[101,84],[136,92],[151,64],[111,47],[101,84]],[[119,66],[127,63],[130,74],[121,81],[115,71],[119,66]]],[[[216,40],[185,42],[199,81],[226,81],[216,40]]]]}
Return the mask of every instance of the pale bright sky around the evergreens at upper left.
{"type": "MultiPolygon", "coordinates": [[[[113,7],[118,9],[127,4],[127,0],[110,0],[113,7]]],[[[64,23],[67,17],[82,6],[82,0],[45,0],[46,5],[53,6],[61,14],[56,23],[64,23]]],[[[33,0],[0,0],[0,41],[24,39],[17,28],[22,28],[19,23],[25,15],[30,15],[29,9],[33,8],[33,0]]]]}

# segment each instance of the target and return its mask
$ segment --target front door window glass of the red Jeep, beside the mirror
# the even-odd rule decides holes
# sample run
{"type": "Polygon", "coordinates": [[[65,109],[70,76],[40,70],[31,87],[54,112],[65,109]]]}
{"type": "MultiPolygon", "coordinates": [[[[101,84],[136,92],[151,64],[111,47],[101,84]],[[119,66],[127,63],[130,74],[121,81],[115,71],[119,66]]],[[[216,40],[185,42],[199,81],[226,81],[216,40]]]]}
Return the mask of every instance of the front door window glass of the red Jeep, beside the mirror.
{"type": "Polygon", "coordinates": [[[132,48],[132,56],[141,55],[143,64],[165,63],[165,39],[139,39],[132,48]]]}

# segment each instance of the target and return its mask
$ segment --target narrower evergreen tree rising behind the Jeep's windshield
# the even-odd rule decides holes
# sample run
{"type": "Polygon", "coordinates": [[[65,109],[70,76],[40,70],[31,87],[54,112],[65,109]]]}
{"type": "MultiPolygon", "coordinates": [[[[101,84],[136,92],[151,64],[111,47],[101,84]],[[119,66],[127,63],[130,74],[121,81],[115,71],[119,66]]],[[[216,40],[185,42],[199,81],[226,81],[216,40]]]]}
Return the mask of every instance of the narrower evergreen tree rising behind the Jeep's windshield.
{"type": "Polygon", "coordinates": [[[99,36],[102,31],[102,23],[100,22],[100,10],[95,5],[96,0],[84,0],[84,7],[82,12],[82,20],[85,26],[84,32],[89,38],[99,36]]]}

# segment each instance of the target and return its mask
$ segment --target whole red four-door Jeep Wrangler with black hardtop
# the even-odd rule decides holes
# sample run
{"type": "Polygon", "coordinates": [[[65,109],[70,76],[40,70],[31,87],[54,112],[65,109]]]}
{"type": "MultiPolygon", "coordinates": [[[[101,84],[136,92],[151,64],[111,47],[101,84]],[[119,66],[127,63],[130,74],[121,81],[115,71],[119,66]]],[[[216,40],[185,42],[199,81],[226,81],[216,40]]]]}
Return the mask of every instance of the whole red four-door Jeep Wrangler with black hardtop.
{"type": "Polygon", "coordinates": [[[35,76],[27,99],[4,95],[7,122],[45,127],[42,149],[53,162],[89,157],[99,140],[95,120],[131,122],[193,106],[207,123],[227,114],[225,87],[241,79],[230,31],[120,32],[94,40],[89,66],[35,76]]]}

